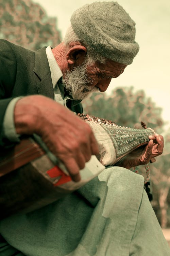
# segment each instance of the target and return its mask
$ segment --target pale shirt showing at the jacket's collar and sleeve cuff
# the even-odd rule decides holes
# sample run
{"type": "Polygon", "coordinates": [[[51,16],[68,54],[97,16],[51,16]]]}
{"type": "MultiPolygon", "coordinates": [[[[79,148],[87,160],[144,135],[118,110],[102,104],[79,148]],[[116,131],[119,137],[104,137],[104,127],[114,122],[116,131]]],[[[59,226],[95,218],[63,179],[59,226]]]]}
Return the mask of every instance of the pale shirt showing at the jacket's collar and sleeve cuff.
{"type": "MultiPolygon", "coordinates": [[[[58,103],[61,103],[66,108],[67,108],[66,104],[68,103],[69,100],[71,100],[70,102],[71,106],[77,105],[79,102],[81,102],[81,100],[76,101],[76,100],[73,100],[71,96],[65,95],[64,85],[62,83],[63,73],[54,58],[50,45],[46,48],[46,54],[49,62],[51,79],[52,79],[52,84],[54,88],[54,100],[58,103]]],[[[17,134],[15,130],[14,108],[17,101],[21,98],[22,96],[12,99],[6,108],[6,112],[4,115],[4,121],[3,121],[4,134],[5,134],[5,137],[12,142],[20,141],[19,140],[20,135],[17,134]]]]}

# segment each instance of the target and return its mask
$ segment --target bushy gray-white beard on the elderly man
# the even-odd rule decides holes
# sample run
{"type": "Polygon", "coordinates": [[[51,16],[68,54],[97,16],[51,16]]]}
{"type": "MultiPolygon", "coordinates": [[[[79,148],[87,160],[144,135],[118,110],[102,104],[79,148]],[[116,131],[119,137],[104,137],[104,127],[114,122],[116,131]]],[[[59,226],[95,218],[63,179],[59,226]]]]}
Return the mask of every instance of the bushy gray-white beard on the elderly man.
{"type": "Polygon", "coordinates": [[[82,64],[64,74],[64,86],[74,100],[83,100],[90,93],[99,91],[97,87],[88,85],[92,83],[92,79],[87,77],[86,67],[87,65],[82,64]]]}

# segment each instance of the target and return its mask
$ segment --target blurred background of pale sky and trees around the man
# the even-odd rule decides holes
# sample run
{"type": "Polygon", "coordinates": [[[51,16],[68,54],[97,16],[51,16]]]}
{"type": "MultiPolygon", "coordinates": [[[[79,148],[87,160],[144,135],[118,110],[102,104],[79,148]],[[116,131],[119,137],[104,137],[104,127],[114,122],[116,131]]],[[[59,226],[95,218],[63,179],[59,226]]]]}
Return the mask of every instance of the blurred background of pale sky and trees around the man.
{"type": "MultiPolygon", "coordinates": [[[[55,47],[63,40],[73,11],[91,2],[1,0],[0,38],[33,51],[55,47]]],[[[131,128],[143,121],[164,135],[164,154],[150,165],[152,206],[162,228],[170,228],[170,2],[118,3],[136,22],[140,51],[124,73],[112,80],[107,93],[93,94],[83,101],[84,113],[131,128]]],[[[143,166],[139,173],[145,176],[143,166]]]]}

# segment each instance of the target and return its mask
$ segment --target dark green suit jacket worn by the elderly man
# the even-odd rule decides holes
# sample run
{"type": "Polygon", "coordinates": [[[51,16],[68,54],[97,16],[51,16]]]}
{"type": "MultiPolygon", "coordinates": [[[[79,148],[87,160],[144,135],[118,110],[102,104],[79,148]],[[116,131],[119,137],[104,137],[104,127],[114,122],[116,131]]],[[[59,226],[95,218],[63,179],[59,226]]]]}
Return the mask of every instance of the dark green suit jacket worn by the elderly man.
{"type": "MultiPolygon", "coordinates": [[[[15,97],[41,94],[54,99],[46,47],[36,52],[0,40],[0,146],[10,144],[2,124],[8,103],[15,97]]],[[[81,103],[71,109],[82,112],[81,103]]]]}

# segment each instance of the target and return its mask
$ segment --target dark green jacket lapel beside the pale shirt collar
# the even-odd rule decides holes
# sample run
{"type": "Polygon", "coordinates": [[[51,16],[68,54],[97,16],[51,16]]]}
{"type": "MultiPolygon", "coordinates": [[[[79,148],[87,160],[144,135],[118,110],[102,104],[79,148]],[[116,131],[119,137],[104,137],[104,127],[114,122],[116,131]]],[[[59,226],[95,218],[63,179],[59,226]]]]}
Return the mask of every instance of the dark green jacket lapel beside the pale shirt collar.
{"type": "Polygon", "coordinates": [[[54,99],[50,67],[46,55],[46,47],[35,52],[34,73],[40,82],[37,84],[38,94],[54,99]]]}

